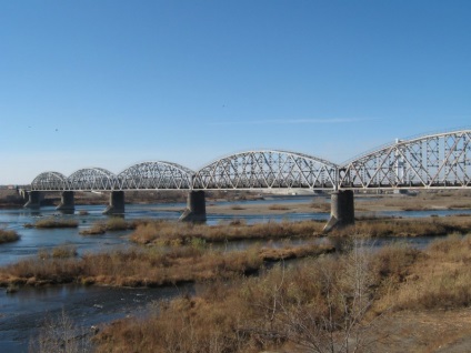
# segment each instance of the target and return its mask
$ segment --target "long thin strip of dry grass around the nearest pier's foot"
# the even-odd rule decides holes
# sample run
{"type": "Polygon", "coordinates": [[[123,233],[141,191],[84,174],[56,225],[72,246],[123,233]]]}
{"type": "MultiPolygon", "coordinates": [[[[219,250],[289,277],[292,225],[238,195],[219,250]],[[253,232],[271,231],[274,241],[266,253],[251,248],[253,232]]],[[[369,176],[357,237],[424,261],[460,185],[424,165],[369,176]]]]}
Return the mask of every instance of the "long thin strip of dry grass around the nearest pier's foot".
{"type": "MultiPolygon", "coordinates": [[[[130,240],[139,244],[186,244],[193,238],[207,242],[257,239],[320,236],[322,221],[268,222],[247,224],[234,220],[229,224],[207,225],[169,221],[141,221],[130,240]]],[[[470,218],[372,219],[358,220],[354,225],[331,231],[332,236],[435,236],[471,231],[470,218]]]]}

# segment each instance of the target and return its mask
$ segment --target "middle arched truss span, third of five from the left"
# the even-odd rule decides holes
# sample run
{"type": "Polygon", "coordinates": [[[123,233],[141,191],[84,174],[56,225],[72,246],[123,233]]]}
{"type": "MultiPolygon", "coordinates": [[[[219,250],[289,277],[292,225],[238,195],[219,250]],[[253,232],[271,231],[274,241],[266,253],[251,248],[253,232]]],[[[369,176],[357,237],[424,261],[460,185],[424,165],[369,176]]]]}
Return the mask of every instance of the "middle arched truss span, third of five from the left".
{"type": "Polygon", "coordinates": [[[171,162],[134,164],[118,174],[121,190],[190,189],[193,171],[171,162]]]}

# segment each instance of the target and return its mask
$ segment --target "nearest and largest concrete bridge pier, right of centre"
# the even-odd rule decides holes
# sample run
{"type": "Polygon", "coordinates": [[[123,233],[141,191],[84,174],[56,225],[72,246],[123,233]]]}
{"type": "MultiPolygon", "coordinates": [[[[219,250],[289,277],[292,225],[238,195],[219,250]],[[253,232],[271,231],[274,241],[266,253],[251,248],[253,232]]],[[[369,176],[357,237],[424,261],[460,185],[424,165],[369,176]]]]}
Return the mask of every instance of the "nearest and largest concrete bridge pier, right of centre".
{"type": "Polygon", "coordinates": [[[323,231],[354,224],[353,191],[339,190],[331,194],[330,219],[323,231]]]}

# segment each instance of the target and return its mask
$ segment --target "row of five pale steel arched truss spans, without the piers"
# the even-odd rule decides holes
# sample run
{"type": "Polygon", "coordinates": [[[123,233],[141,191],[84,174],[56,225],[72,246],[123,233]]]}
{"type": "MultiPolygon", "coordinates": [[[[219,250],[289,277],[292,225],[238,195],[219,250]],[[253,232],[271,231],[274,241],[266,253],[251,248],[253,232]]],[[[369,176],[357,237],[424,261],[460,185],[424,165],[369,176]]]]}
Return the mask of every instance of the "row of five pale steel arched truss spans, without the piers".
{"type": "Polygon", "coordinates": [[[358,190],[471,188],[471,130],[397,140],[343,164],[295,152],[260,150],[219,159],[198,171],[171,162],[134,164],[119,174],[80,169],[40,173],[33,191],[358,190]]]}

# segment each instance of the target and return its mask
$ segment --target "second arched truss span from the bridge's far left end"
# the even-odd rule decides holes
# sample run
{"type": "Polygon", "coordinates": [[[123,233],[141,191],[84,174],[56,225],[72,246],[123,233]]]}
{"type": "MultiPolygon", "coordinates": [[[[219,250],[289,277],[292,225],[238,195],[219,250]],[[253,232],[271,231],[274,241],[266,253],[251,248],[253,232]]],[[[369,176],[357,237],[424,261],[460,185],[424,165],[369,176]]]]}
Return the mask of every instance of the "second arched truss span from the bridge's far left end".
{"type": "Polygon", "coordinates": [[[80,169],[68,178],[69,190],[116,190],[117,176],[102,168],[80,169]]]}

